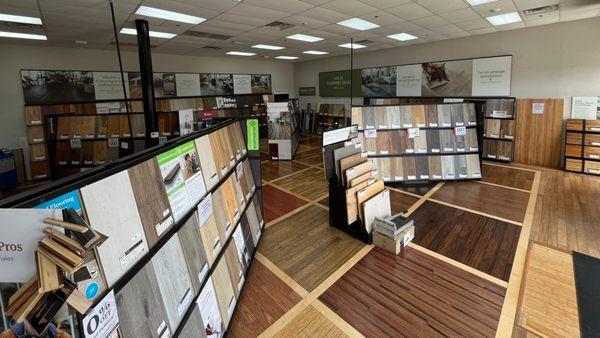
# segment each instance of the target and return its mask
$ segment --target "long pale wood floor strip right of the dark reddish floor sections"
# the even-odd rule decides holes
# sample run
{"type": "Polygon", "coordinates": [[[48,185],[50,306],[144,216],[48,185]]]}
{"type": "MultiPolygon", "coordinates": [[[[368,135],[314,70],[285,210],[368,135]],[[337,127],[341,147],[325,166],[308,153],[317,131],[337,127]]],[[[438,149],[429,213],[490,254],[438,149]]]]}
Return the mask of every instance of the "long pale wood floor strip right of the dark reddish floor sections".
{"type": "Polygon", "coordinates": [[[536,171],[533,179],[533,189],[529,196],[529,203],[525,211],[525,220],[521,228],[513,266],[508,280],[508,287],[502,304],[502,312],[496,330],[496,337],[510,337],[514,329],[514,323],[517,316],[517,306],[519,294],[523,281],[523,271],[525,269],[525,260],[527,256],[527,248],[529,247],[529,238],[531,235],[531,227],[533,225],[533,217],[535,214],[535,206],[537,204],[538,191],[540,187],[541,171],[536,171]]]}

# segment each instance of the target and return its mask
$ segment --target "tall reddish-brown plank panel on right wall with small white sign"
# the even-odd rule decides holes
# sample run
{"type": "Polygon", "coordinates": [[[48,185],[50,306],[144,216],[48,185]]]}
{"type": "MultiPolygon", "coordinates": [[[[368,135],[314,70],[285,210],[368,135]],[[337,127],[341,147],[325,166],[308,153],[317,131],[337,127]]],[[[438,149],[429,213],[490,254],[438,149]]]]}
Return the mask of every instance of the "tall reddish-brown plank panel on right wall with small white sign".
{"type": "Polygon", "coordinates": [[[517,100],[515,162],[560,168],[563,105],[562,99],[517,100]],[[544,103],[543,114],[532,113],[534,103],[544,103]]]}

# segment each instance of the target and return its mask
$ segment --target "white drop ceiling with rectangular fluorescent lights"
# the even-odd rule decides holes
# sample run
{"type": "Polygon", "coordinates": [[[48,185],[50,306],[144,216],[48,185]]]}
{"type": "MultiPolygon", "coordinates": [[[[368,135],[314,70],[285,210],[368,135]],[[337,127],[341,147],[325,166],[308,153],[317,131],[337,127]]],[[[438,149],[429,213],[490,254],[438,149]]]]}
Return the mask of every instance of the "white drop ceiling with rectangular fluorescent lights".
{"type": "MultiPolygon", "coordinates": [[[[219,56],[229,51],[253,52],[251,58],[298,56],[295,62],[347,54],[338,45],[354,38],[366,45],[357,52],[411,44],[427,43],[500,30],[518,29],[595,17],[600,14],[600,0],[498,0],[471,6],[466,0],[115,0],[117,30],[134,28],[135,19],[146,19],[153,31],[178,34],[173,39],[152,39],[154,51],[196,56],[219,56]],[[522,11],[545,5],[559,5],[559,10],[525,16],[522,11]],[[140,5],[206,18],[198,25],[140,17],[140,5]],[[492,26],[486,17],[519,12],[522,22],[492,26]],[[381,27],[357,31],[337,22],[361,18],[381,27]],[[284,30],[264,27],[281,21],[292,25],[284,30]],[[225,40],[183,35],[186,31],[231,36],[225,40]],[[293,34],[322,37],[318,42],[286,39],[293,34]],[[388,35],[409,33],[418,37],[397,41],[388,35]],[[360,40],[368,40],[361,42],[360,40]],[[283,46],[280,51],[251,48],[256,44],[283,46]],[[212,48],[208,48],[212,47],[212,48]],[[328,55],[307,55],[318,50],[328,55]]],[[[41,17],[43,26],[0,22],[0,31],[45,34],[48,41],[21,41],[0,38],[0,43],[25,43],[63,47],[114,49],[114,35],[108,0],[0,0],[0,13],[41,17]],[[75,44],[75,40],[87,44],[75,44]]],[[[119,34],[124,49],[135,49],[136,37],[119,34]]]]}

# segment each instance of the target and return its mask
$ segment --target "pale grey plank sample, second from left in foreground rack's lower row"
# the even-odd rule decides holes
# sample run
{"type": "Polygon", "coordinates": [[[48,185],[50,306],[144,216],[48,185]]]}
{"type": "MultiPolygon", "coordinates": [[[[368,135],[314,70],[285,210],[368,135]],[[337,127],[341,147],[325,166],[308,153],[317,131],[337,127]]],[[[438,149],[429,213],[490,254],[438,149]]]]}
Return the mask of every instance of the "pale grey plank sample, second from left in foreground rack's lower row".
{"type": "Polygon", "coordinates": [[[179,237],[173,236],[150,261],[156,273],[169,323],[173,328],[179,326],[194,297],[183,255],[179,237]]]}

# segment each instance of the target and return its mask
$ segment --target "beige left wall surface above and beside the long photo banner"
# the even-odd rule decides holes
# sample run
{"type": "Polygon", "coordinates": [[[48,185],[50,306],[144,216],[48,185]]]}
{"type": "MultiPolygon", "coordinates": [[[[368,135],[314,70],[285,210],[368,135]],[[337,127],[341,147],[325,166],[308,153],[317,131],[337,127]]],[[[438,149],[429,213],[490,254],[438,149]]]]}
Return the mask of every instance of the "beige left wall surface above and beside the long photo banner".
{"type": "MultiPolygon", "coordinates": [[[[124,70],[138,69],[136,52],[122,55],[124,70]]],[[[155,72],[271,74],[273,89],[294,91],[293,65],[286,62],[153,54],[152,63],[155,72]]],[[[22,68],[116,71],[119,66],[116,51],[0,44],[0,148],[24,148],[27,153],[22,68]]]]}

